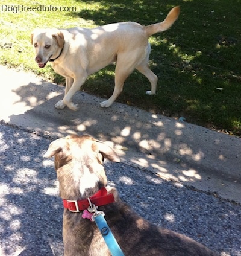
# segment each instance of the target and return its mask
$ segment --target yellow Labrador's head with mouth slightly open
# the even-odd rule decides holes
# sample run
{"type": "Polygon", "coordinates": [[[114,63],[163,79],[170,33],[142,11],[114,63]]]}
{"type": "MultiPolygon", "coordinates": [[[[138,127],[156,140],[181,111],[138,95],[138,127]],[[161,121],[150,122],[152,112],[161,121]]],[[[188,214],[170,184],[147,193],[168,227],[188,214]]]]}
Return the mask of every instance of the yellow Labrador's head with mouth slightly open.
{"type": "Polygon", "coordinates": [[[64,36],[54,28],[36,29],[31,34],[31,43],[35,48],[35,61],[44,68],[51,57],[57,57],[64,46],[64,36]]]}

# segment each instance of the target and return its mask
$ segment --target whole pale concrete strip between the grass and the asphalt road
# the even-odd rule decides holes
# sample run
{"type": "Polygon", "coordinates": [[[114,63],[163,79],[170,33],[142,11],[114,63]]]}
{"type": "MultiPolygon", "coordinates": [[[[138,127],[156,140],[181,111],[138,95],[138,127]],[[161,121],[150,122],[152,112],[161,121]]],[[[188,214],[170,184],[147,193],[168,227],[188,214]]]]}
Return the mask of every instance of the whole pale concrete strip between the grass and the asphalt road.
{"type": "MultiPolygon", "coordinates": [[[[0,120],[58,138],[89,133],[114,146],[127,164],[241,203],[241,139],[77,92],[77,112],[55,109],[64,87],[0,66],[0,120]]],[[[143,92],[144,93],[144,92],[143,92]]]]}

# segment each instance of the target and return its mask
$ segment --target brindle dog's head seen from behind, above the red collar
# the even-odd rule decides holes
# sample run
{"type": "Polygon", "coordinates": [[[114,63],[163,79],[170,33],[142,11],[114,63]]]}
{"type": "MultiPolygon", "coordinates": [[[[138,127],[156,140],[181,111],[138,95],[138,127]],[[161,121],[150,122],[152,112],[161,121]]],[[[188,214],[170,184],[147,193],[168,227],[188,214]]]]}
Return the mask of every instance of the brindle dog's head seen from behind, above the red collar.
{"type": "Polygon", "coordinates": [[[116,152],[89,135],[69,135],[53,141],[43,157],[55,156],[60,196],[69,200],[85,197],[86,191],[107,184],[104,158],[119,162],[116,152]]]}

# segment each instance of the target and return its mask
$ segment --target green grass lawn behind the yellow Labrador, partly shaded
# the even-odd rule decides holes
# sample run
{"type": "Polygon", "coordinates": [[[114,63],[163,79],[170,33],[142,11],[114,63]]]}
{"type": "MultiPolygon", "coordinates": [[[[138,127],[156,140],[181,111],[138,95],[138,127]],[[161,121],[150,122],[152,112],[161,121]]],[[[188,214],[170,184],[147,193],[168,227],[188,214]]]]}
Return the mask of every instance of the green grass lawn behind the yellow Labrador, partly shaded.
{"type": "MultiPolygon", "coordinates": [[[[48,2],[49,3],[49,2],[48,2]]],[[[10,5],[7,1],[1,4],[10,5]]],[[[38,6],[40,2],[14,1],[14,5],[38,6]]],[[[12,4],[12,5],[13,5],[12,4]]],[[[41,4],[49,6],[47,1],[41,4]]],[[[63,78],[48,65],[34,62],[30,33],[36,27],[95,27],[119,21],[143,25],[162,21],[180,5],[174,26],[150,39],[150,66],[158,75],[157,95],[145,95],[148,80],[138,72],[127,79],[117,99],[150,112],[210,129],[241,135],[241,1],[240,0],[100,0],[51,1],[55,7],[76,7],[74,12],[1,12],[0,63],[27,69],[57,83],[63,78]],[[216,88],[222,88],[222,91],[216,88]]],[[[110,97],[114,66],[91,75],[83,90],[110,97]]]]}

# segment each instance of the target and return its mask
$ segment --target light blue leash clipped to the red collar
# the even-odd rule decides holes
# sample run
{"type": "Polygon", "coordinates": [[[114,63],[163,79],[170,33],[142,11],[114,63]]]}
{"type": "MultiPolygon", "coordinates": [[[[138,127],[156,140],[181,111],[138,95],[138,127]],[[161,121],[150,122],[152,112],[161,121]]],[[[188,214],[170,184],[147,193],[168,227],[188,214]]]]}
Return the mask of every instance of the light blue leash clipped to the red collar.
{"type": "Polygon", "coordinates": [[[95,223],[99,228],[99,231],[101,231],[102,237],[104,238],[111,255],[124,256],[121,247],[117,243],[116,238],[114,238],[114,235],[112,234],[104,218],[104,214],[96,214],[96,216],[93,216],[93,219],[95,220],[95,223]]]}

